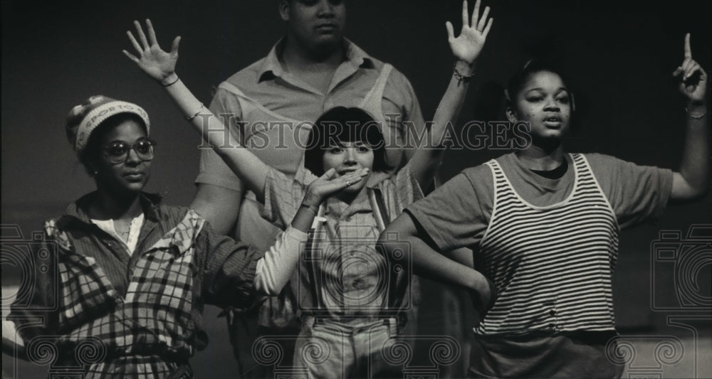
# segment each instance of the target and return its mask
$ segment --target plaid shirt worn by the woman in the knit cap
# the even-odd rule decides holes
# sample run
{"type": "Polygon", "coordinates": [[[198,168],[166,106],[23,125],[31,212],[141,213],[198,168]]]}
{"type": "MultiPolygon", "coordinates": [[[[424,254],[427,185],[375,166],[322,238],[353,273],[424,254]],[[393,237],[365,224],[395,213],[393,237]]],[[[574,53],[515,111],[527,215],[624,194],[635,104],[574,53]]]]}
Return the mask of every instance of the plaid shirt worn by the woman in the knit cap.
{"type": "Polygon", "coordinates": [[[194,210],[142,194],[145,222],[129,256],[83,211],[92,196],[46,223],[46,241],[34,254],[56,252],[56,267],[34,270],[24,284],[31,288],[19,292],[30,301],[17,299],[9,316],[28,348],[33,338],[52,341],[53,367],[84,365],[103,378],[164,376],[205,347],[204,303],[254,304],[263,252],[216,235],[194,210]],[[77,346],[88,339],[105,354],[82,357],[77,346]]]}

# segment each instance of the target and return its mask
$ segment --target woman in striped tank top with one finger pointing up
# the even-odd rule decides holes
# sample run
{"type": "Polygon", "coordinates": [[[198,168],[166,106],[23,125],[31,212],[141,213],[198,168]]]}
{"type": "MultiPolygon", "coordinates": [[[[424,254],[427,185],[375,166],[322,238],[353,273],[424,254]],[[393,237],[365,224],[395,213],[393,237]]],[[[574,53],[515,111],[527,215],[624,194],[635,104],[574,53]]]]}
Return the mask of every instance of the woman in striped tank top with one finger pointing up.
{"type": "Polygon", "coordinates": [[[466,287],[488,308],[474,329],[471,376],[622,375],[607,359],[619,230],[658,215],[668,201],[700,198],[709,181],[707,75],[692,60],[689,35],[674,75],[687,99],[679,172],[565,153],[573,95],[556,70],[530,62],[509,82],[506,115],[530,124],[532,144],[462,171],[386,229],[399,242],[382,240],[385,250],[412,249],[416,272],[466,287]],[[472,247],[473,256],[434,250],[459,247],[472,247]]]}

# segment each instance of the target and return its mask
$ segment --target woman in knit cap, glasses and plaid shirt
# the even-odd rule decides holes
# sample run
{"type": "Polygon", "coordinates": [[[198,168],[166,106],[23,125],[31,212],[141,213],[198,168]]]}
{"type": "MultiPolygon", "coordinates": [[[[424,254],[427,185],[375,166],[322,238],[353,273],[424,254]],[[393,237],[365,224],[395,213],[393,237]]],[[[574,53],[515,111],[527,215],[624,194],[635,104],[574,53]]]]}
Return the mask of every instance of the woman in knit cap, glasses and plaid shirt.
{"type": "MultiPolygon", "coordinates": [[[[46,243],[36,253],[56,246],[56,267],[29,275],[19,294],[31,298],[16,299],[8,317],[31,360],[53,346],[53,370],[80,368],[84,378],[191,378],[188,358],[207,343],[204,304],[253,305],[258,261],[268,267],[274,255],[295,255],[299,247],[286,243],[294,238],[288,229],[263,258],[213,233],[194,210],[142,192],[156,146],[149,126],[138,105],[101,95],[69,114],[69,142],[96,191],[45,223],[46,243]],[[82,353],[88,344],[96,349],[89,356],[82,353]]],[[[312,189],[344,187],[317,181],[312,189]]]]}

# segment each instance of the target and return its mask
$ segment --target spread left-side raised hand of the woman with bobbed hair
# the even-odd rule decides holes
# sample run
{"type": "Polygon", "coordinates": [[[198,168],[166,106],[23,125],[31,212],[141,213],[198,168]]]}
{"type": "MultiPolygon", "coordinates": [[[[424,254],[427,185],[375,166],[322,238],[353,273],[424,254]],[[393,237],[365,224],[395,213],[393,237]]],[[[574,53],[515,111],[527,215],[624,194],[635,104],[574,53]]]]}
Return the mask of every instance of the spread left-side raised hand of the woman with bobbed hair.
{"type": "Polygon", "coordinates": [[[136,33],[139,41],[136,41],[136,38],[133,36],[131,31],[127,31],[126,34],[128,35],[131,44],[136,49],[138,57],[126,50],[122,50],[124,55],[126,55],[130,60],[133,60],[134,63],[136,63],[138,67],[152,79],[162,82],[163,80],[169,78],[175,73],[176,63],[178,61],[178,45],[180,43],[180,36],[174,38],[171,51],[167,53],[160,46],[158,46],[156,33],[153,30],[151,20],[146,20],[148,38],[146,38],[146,34],[143,32],[143,28],[138,21],[134,21],[134,25],[136,26],[136,33]]]}

